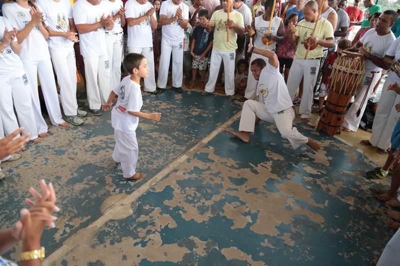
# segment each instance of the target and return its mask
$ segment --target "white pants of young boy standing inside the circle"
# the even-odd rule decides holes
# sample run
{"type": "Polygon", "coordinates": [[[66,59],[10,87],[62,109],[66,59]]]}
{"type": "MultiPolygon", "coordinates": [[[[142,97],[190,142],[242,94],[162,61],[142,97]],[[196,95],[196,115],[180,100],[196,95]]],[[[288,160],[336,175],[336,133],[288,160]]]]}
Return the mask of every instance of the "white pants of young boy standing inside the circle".
{"type": "Polygon", "coordinates": [[[126,134],[114,129],[115,146],[112,159],[121,163],[124,178],[129,178],[136,173],[139,147],[137,146],[136,134],[126,134]]]}

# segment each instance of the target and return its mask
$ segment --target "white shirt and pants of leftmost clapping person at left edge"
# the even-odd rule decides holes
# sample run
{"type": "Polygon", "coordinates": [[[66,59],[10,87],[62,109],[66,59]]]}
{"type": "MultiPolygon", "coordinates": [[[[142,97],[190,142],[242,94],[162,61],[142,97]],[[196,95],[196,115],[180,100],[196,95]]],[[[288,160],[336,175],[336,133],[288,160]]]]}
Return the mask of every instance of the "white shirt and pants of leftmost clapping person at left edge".
{"type": "MultiPolygon", "coordinates": [[[[0,39],[3,39],[4,28],[12,30],[11,22],[0,16],[0,39]]],[[[17,42],[15,38],[13,40],[17,42]]],[[[8,135],[18,128],[24,128],[23,134],[30,133],[29,140],[37,138],[37,128],[33,116],[32,100],[30,97],[30,84],[23,70],[23,64],[11,46],[8,45],[0,51],[0,115],[2,116],[1,130],[4,128],[8,135]],[[14,107],[18,115],[15,117],[14,107]]],[[[0,138],[3,137],[0,134],[0,138]]]]}

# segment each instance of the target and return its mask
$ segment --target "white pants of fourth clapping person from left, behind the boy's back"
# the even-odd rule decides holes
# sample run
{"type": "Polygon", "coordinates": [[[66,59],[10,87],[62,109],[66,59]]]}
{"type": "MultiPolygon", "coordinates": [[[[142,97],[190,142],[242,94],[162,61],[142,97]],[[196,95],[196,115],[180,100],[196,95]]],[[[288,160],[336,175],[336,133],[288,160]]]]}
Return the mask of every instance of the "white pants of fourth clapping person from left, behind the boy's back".
{"type": "Polygon", "coordinates": [[[108,55],[84,56],[87,101],[91,110],[101,108],[107,102],[110,86],[110,63],[108,55]]]}

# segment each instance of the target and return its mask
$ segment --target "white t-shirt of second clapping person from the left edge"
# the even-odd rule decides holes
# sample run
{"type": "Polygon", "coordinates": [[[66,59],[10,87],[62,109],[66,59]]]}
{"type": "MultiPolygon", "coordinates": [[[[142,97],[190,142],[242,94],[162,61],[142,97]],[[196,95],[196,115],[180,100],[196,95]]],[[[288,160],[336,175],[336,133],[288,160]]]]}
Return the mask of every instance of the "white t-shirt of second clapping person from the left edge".
{"type": "MultiPolygon", "coordinates": [[[[19,31],[30,22],[31,16],[29,11],[29,8],[23,8],[16,2],[5,3],[2,6],[2,14],[19,31]]],[[[19,52],[19,57],[22,61],[41,61],[50,57],[47,42],[37,25],[34,26],[20,45],[21,51],[19,52]]]]}

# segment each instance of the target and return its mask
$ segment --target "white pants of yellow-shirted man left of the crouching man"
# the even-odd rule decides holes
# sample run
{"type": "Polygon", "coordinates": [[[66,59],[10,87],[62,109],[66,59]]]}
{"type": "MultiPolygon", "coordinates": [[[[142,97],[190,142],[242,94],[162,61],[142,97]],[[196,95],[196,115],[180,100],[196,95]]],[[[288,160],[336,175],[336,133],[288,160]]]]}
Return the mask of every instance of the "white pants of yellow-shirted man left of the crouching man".
{"type": "Polygon", "coordinates": [[[234,95],[234,68],[235,68],[236,51],[219,51],[212,49],[211,60],[209,66],[209,76],[207,84],[205,84],[206,92],[213,92],[215,89],[216,79],[218,78],[219,67],[223,61],[223,72],[225,74],[225,94],[234,95]]]}

